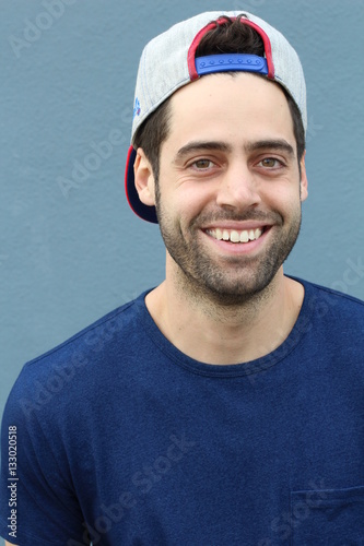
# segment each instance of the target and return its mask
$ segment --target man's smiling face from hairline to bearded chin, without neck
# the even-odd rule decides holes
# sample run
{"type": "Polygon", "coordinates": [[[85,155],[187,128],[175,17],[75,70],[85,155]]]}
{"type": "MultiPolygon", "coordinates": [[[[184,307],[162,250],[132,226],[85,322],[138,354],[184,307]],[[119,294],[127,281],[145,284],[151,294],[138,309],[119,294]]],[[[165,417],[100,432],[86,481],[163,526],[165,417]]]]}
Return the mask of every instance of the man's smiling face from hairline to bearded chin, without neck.
{"type": "Polygon", "coordinates": [[[171,107],[155,197],[167,268],[221,301],[244,301],[289,256],[307,195],[286,98],[262,78],[214,74],[171,107]]]}

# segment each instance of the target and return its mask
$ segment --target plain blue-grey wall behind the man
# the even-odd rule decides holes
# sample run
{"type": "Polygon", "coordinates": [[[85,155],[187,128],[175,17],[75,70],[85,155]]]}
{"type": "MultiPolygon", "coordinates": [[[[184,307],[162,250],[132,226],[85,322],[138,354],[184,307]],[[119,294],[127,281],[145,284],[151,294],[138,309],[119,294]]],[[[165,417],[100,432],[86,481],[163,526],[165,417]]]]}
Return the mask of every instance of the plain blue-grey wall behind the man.
{"type": "Polygon", "coordinates": [[[163,280],[158,228],[124,193],[138,62],[222,8],[278,27],[306,74],[309,198],[285,272],[364,298],[363,0],[1,1],[0,413],[26,360],[163,280]]]}

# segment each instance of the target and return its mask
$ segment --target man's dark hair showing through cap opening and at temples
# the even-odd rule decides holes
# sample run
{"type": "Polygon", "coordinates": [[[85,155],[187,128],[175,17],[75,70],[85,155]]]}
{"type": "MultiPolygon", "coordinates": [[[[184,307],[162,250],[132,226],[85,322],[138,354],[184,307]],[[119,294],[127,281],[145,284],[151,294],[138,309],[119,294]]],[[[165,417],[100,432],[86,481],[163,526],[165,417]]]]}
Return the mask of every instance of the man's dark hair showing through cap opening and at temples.
{"type": "MultiPolygon", "coordinates": [[[[216,54],[250,54],[265,56],[265,44],[261,36],[251,26],[242,24],[244,14],[232,20],[228,16],[223,16],[225,22],[220,24],[213,21],[214,28],[209,31],[201,39],[197,50],[197,57],[206,57],[216,54]]],[[[230,72],[234,73],[234,72],[230,72]]],[[[263,78],[263,76],[261,76],[263,78]]],[[[301,161],[305,151],[305,130],[302,122],[302,117],[296,103],[284,87],[282,91],[289,103],[294,136],[297,144],[297,158],[301,161]]],[[[163,142],[167,139],[169,132],[171,120],[171,96],[162,103],[162,105],[149,116],[145,121],[137,130],[134,136],[134,147],[142,147],[146,157],[152,164],[155,179],[160,173],[160,151],[163,142]]]]}

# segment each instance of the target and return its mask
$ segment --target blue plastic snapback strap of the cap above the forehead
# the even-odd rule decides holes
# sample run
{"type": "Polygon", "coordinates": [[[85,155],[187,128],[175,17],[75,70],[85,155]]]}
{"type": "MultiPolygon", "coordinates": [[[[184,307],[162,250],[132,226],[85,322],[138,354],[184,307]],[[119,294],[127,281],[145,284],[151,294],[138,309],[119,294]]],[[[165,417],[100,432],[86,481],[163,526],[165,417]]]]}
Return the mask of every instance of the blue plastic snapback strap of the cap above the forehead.
{"type": "Polygon", "coordinates": [[[268,74],[267,59],[257,55],[245,54],[221,54],[197,57],[195,59],[196,70],[199,75],[213,72],[256,72],[268,74]]]}

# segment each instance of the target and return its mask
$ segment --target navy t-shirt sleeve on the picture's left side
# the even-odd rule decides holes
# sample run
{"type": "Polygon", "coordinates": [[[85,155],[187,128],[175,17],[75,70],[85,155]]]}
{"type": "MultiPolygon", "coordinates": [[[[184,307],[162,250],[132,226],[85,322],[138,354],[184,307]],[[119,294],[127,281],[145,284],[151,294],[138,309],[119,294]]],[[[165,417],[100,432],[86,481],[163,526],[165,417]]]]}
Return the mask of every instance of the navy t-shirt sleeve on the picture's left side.
{"type": "Polygon", "coordinates": [[[90,544],[61,434],[49,404],[27,406],[31,389],[23,369],[2,418],[0,535],[20,546],[90,544]]]}

